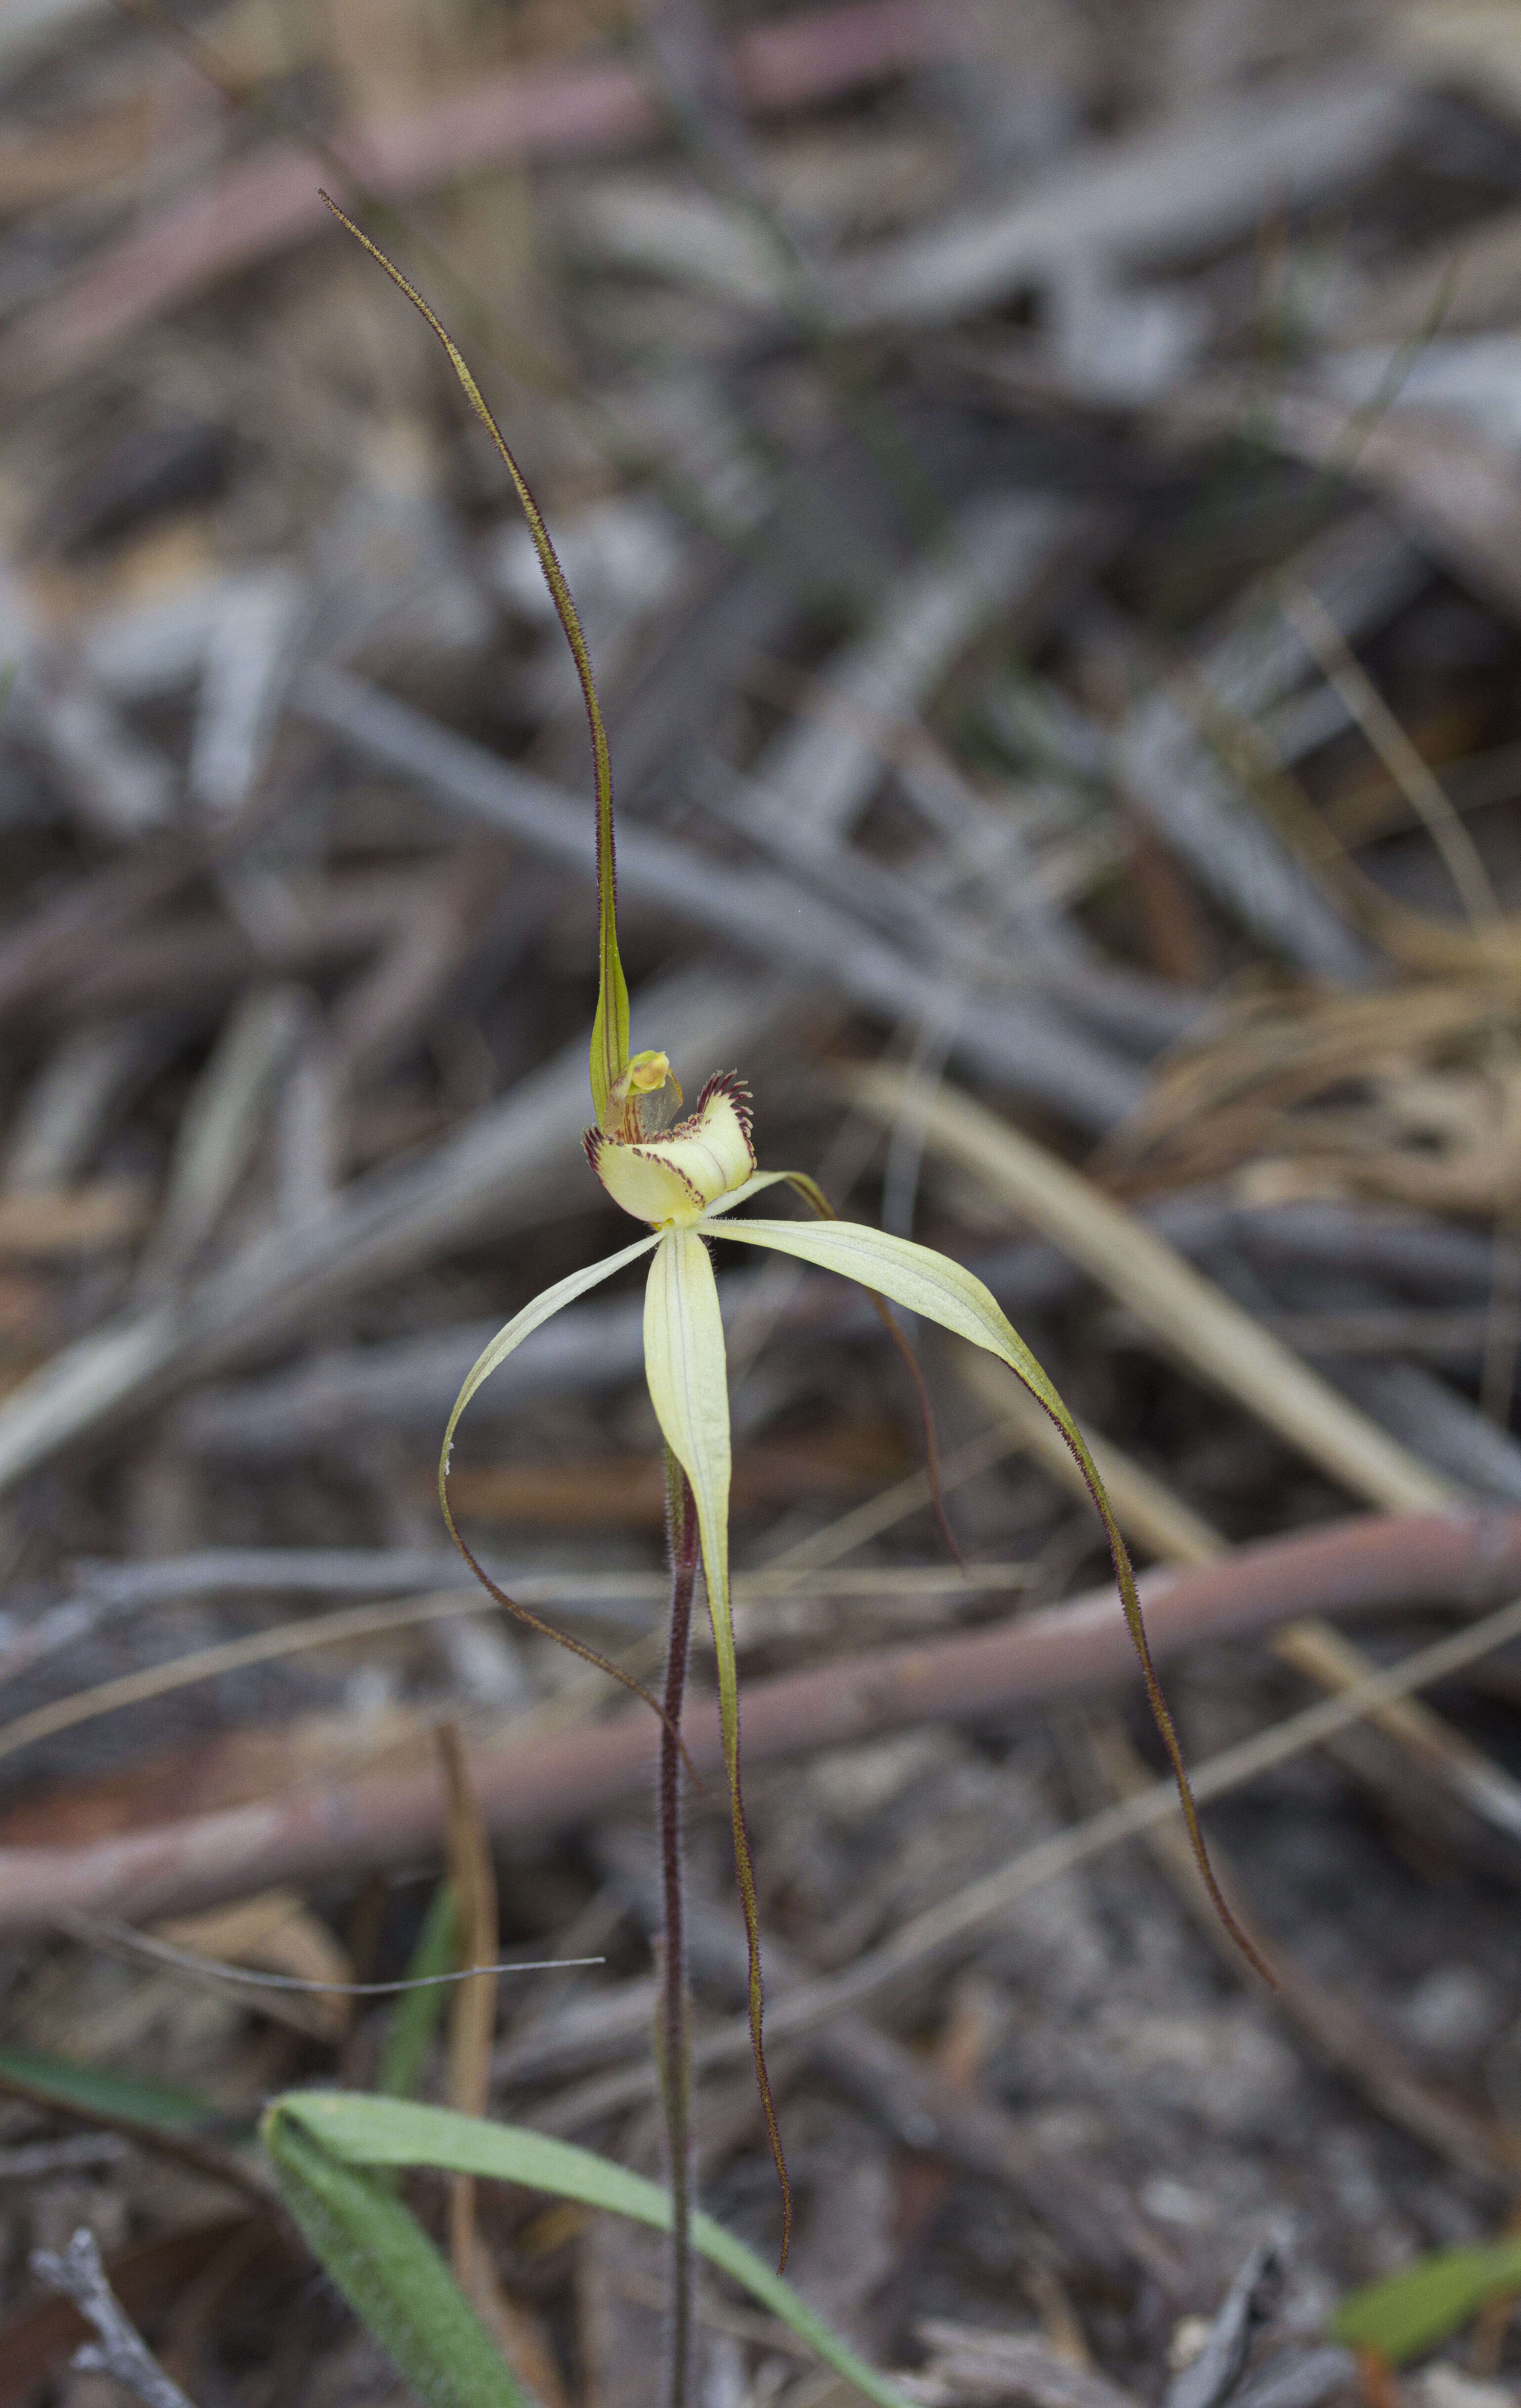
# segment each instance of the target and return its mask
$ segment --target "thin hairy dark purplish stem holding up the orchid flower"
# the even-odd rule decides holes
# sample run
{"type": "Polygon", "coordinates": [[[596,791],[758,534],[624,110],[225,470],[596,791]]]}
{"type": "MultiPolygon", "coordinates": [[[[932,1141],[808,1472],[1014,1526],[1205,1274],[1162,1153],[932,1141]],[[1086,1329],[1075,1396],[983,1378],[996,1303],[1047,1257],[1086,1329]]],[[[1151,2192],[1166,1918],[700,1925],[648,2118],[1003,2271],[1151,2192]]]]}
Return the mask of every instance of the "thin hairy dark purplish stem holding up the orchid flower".
{"type": "Polygon", "coordinates": [[[691,2254],[691,1987],[686,1977],[686,1866],[681,1854],[681,1700],[691,1647],[691,1599],[698,1580],[698,1507],[686,1471],[667,1447],[667,1524],[671,1544],[671,1635],[664,1722],[659,1729],[659,2011],[657,2059],[671,2184],[667,2408],[686,2408],[693,2338],[691,2254]]]}

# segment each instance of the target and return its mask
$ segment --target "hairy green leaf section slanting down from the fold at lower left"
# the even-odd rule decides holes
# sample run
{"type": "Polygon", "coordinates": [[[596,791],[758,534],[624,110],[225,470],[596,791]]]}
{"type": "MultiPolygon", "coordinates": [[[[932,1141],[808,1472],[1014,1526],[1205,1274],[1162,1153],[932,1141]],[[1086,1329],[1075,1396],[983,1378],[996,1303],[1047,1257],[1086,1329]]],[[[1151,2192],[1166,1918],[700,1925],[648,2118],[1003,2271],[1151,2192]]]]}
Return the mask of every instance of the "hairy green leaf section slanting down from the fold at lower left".
{"type": "Polygon", "coordinates": [[[279,2191],[313,2256],[428,2408],[534,2408],[414,2215],[313,2138],[291,2100],[265,2114],[279,2191]]]}

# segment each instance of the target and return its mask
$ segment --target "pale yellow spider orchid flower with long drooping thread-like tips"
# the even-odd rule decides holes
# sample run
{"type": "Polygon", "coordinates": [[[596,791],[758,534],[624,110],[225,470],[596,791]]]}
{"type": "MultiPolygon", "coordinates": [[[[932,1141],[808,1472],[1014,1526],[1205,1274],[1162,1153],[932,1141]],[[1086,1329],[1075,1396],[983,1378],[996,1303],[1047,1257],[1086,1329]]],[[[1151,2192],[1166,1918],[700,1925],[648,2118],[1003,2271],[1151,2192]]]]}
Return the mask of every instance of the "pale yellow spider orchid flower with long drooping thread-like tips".
{"type": "MultiPolygon", "coordinates": [[[[327,195],[322,195],[327,197],[327,195]]],[[[760,1170],[756,1163],[756,1146],[751,1132],[751,1103],[748,1088],[736,1074],[724,1074],[710,1079],[696,1100],[693,1112],[676,1122],[674,1127],[659,1127],[662,1112],[674,1096],[681,1103],[681,1088],[671,1076],[671,1064],[664,1052],[647,1050],[631,1057],[628,1052],[628,987],[623,982],[623,966],[619,961],[619,932],[616,932],[616,879],[614,879],[614,811],[611,811],[611,771],[606,732],[602,725],[602,710],[597,703],[597,689],[592,679],[592,662],[587,655],[585,636],[570,590],[566,585],[561,563],[554,554],[554,544],[544,527],[544,518],[508,450],[496,419],[491,417],[479,385],[460,356],[455,342],[433,315],[428,303],[414,287],[400,275],[397,267],[354,226],[342,209],[327,202],[335,217],[339,217],[349,231],[363,243],[363,248],[385,267],[395,284],[402,287],[407,299],[421,311],[438,340],[443,342],[452,368],[469,397],[472,409],[491,433],[496,450],[501,453],[527,525],[539,554],[544,580],[554,597],[566,641],[575,657],[575,669],[580,677],[580,691],[587,710],[587,725],[592,734],[592,766],[597,785],[597,884],[599,884],[599,995],[597,1016],[592,1023],[592,1105],[597,1122],[585,1134],[585,1153],[594,1175],[602,1180],[606,1194],[635,1221],[645,1223],[645,1235],[635,1238],[633,1245],[619,1247],[619,1252],[606,1255],[602,1262],[590,1264],[582,1271],[570,1271],[568,1279],[558,1279],[541,1296],[534,1296],[522,1312],[491,1339],[472,1365],[448,1418],[443,1433],[443,1452],[438,1462],[438,1498],[443,1517],[448,1522],[450,1536],[464,1553],[467,1563],[477,1577],[491,1589],[491,1594],[508,1606],[522,1621],[532,1623],[537,1630],[549,1630],[537,1616],[517,1606],[505,1597],[474,1560],[460,1531],[455,1529],[455,1517],[448,1500],[448,1466],[455,1442],[455,1430],[460,1428],[460,1416],[464,1413],[469,1399],[477,1389],[498,1370],[505,1358],[522,1346],[534,1329],[541,1329],[556,1312],[573,1305],[590,1288],[597,1288],[604,1279],[626,1269],[631,1262],[650,1257],[650,1276],[645,1281],[645,1377],[650,1385],[650,1401],[655,1404],[655,1416],[659,1421],[667,1442],[667,1469],[671,1476],[671,1553],[679,1568],[679,1541],[686,1529],[688,1539],[688,1572],[686,1572],[686,1599],[691,1601],[691,1512],[696,1510],[696,1536],[700,1541],[700,1560],[708,1589],[708,1613],[712,1621],[712,1645],[717,1657],[717,1695],[720,1695],[720,1727],[724,1746],[724,1770],[729,1784],[729,1813],[734,1825],[734,1864],[739,1876],[739,1893],[744,1902],[744,1922],[748,1936],[748,1996],[751,1996],[751,2032],[756,2052],[756,2076],[760,2085],[760,2105],[765,2112],[765,2126],[770,2136],[770,2148],[777,2162],[777,2174],[782,2182],[782,2199],[787,2206],[787,2167],[782,2162],[782,2148],[777,2136],[777,2119],[770,2100],[770,2083],[765,2076],[765,2054],[760,2044],[760,1946],[758,1946],[758,1910],[756,1910],[756,1878],[751,1869],[751,1849],[744,1825],[744,1801],[739,1782],[739,1671],[734,1659],[734,1616],[729,1606],[729,1385],[727,1385],[727,1361],[724,1361],[724,1324],[720,1317],[717,1286],[712,1276],[712,1243],[727,1245],[753,1245],[770,1247],[775,1255],[789,1255],[794,1262],[811,1264],[821,1271],[838,1271],[842,1279],[854,1279],[874,1298],[886,1298],[907,1312],[924,1320],[939,1322],[953,1336],[965,1339],[970,1346],[982,1346],[987,1353],[996,1356],[1016,1380],[1030,1389],[1037,1404],[1049,1413],[1061,1438],[1071,1447],[1081,1464],[1083,1479],[1093,1493],[1093,1503],[1102,1517],[1109,1551],[1114,1558],[1114,1575],[1119,1584],[1119,1597],[1124,1616],[1136,1642],[1136,1654],[1141,1659],[1141,1671],[1146,1678],[1146,1693],[1150,1710],[1155,1714],[1167,1758],[1177,1775],[1182,1811],[1186,1830],[1194,1845],[1194,1857],[1211,1890],[1218,1914],[1235,1934],[1242,1950],[1261,1965],[1249,1941],[1239,1934],[1220,1890],[1215,1885],[1208,1854],[1203,1847],[1203,1835],[1199,1830],[1199,1818],[1194,1811],[1194,1799],[1189,1792],[1189,1780],[1182,1763],[1182,1751],[1172,1729],[1172,1717],[1162,1700],[1158,1686],[1150,1649],[1146,1640],[1146,1625],[1141,1621],[1141,1604],[1136,1599],[1136,1582],[1129,1563],[1129,1553],[1109,1500],[1105,1495],[1102,1481],[1093,1466],[1093,1457],[1083,1445],[1083,1435],[1066,1411],[1061,1397],[1047,1380],[1044,1370],[1011,1327],[1011,1322],[999,1310],[992,1291],[975,1279],[958,1262],[946,1255],[934,1252],[934,1247],[917,1245],[910,1238],[888,1235],[881,1228],[871,1228],[862,1221],[840,1221],[830,1214],[828,1202],[806,1173],[799,1170],[760,1170]],[[751,1204],[768,1190],[787,1185],[792,1187],[813,1214],[816,1221],[773,1221],[751,1218],[741,1214],[741,1206],[751,1204]]],[[[934,1469],[934,1462],[931,1462],[934,1469]]],[[[609,1664],[604,1657],[594,1654],[580,1640],[570,1640],[558,1630],[549,1630],[561,1645],[573,1647],[587,1662],[602,1666],[614,1678],[623,1681],[628,1688],[638,1688],[626,1671],[609,1664]]],[[[647,1693],[638,1690],[643,1698],[647,1693]]],[[[667,1705],[650,1705],[667,1722],[667,1739],[679,1743],[671,1729],[671,1698],[674,1714],[679,1714],[681,1686],[667,1688],[667,1705]]],[[[1261,1967],[1266,1972],[1266,1967],[1261,1967]]],[[[1271,1979],[1271,1977],[1268,1977],[1271,1979]]],[[[667,2068],[669,2073],[669,2068],[667,2068]]],[[[671,2090],[676,2083],[667,2078],[667,2112],[671,2090]]],[[[674,2174],[676,2194],[681,2194],[681,2179],[674,2174]]],[[[681,2208],[681,2199],[679,2199],[681,2208]]],[[[787,2206],[789,2215],[789,2206],[787,2206]]],[[[785,2256],[785,2244],[782,2244],[785,2256]]]]}

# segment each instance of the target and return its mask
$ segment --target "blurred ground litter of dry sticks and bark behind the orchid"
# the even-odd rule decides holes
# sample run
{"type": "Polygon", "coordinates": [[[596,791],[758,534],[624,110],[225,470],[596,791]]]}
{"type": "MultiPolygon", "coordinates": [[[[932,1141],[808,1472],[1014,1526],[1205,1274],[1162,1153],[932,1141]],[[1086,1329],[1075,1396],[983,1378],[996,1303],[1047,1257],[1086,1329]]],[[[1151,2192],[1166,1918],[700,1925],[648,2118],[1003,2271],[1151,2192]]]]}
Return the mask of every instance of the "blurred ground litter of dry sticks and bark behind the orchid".
{"type": "MultiPolygon", "coordinates": [[[[907,1950],[777,2044],[799,2288],[927,2408],[1507,2408],[1521,2264],[1393,2372],[1333,2312],[1514,2211],[1521,1637],[1295,1717],[1521,1587],[1514,0],[0,7],[0,2403],[123,2396],[26,2273],[79,2223],[197,2408],[412,2396],[238,2174],[392,2008],[113,1919],[397,1977],[440,1729],[505,1953],[602,1958],[503,1982],[472,2095],[659,2165],[628,1707],[477,1611],[433,1495],[491,1332],[626,1238],[585,720],[320,188],[566,563],[635,1045],[992,1283],[1155,1568],[1189,1758],[1283,1724],[1208,1816],[1276,1996],[1172,1825],[1018,1873],[1162,1770],[1102,1529],[922,1332],[958,1568],[859,1293],[720,1257],[773,1999],[907,1950]]],[[[513,1594],[652,1678],[638,1286],[455,1464],[513,1594]]],[[[727,1845],[710,1789],[715,2035],[727,1845]]],[[[775,2247],[734,2052],[700,2182],[775,2247]]],[[[655,2403],[659,2249],[479,2218],[544,2408],[655,2403]]],[[[722,2288],[700,2384],[850,2398],[722,2288]]]]}

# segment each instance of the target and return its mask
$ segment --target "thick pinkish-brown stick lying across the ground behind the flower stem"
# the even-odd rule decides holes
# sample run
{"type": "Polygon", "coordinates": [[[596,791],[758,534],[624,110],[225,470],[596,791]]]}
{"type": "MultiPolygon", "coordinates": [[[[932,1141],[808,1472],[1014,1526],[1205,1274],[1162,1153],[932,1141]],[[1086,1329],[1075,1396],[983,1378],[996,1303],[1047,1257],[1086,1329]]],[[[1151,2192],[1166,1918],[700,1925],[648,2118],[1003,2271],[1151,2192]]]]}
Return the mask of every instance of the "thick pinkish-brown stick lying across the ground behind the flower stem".
{"type": "MultiPolygon", "coordinates": [[[[1360,1515],[1247,1546],[1189,1570],[1158,1570],[1141,1599],[1158,1662],[1203,1640],[1247,1640],[1297,1613],[1374,1613],[1418,1604],[1482,1609],[1521,1589],[1521,1515],[1360,1515]]],[[[845,1657],[756,1681],[744,1695],[748,1765],[847,1746],[915,1722],[992,1722],[1049,1698],[1136,1678],[1109,1587],[987,1630],[845,1657]]],[[[688,1705],[700,1772],[722,1767],[715,1705],[688,1705]]],[[[645,1712],[520,1748],[481,1748],[472,1770],[496,1837],[573,1830],[647,1789],[659,1727],[645,1712]]],[[[404,1864],[440,1845],[431,1770],[373,1772],[289,1799],[125,1830],[75,1847],[0,1847],[0,1934],[39,1931],[60,1910],[144,1919],[404,1864]]]]}

